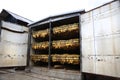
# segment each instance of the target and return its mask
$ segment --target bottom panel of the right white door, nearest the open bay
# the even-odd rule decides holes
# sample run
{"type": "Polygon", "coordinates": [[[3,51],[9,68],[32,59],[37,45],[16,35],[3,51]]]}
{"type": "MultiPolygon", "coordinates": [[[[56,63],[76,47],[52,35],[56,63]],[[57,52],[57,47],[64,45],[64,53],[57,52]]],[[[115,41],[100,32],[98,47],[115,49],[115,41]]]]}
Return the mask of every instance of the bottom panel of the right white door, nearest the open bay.
{"type": "Polygon", "coordinates": [[[95,56],[82,57],[82,72],[95,73],[95,56]]]}

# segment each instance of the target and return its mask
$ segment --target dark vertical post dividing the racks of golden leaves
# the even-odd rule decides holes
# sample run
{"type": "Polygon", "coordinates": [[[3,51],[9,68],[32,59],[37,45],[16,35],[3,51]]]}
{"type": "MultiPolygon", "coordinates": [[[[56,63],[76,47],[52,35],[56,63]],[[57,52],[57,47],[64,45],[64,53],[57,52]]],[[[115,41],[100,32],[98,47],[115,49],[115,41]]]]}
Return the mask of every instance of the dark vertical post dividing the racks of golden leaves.
{"type": "Polygon", "coordinates": [[[51,19],[49,22],[49,55],[48,55],[48,69],[51,67],[51,50],[52,50],[52,25],[51,25],[51,19]]]}

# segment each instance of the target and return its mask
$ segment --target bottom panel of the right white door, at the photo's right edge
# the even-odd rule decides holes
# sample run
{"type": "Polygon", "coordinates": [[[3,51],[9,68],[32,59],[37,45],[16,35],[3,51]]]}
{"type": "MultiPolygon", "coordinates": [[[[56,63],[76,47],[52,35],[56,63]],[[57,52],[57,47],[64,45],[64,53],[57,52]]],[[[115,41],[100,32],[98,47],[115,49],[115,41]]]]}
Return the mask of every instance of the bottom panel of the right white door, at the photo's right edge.
{"type": "Polygon", "coordinates": [[[120,77],[118,67],[115,56],[96,56],[96,74],[120,77]]]}

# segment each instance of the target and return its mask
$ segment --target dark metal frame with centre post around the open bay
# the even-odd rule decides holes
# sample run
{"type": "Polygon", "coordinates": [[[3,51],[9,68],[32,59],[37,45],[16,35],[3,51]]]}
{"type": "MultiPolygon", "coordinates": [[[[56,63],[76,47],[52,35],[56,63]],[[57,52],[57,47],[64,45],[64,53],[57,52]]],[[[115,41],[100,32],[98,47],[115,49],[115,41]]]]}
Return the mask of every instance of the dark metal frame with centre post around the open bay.
{"type": "MultiPolygon", "coordinates": [[[[49,28],[49,52],[48,52],[48,69],[51,68],[51,53],[52,53],[52,23],[54,22],[57,22],[57,21],[60,21],[60,20],[65,20],[65,19],[69,19],[69,18],[74,18],[74,17],[78,17],[78,23],[79,23],[79,38],[80,38],[80,42],[81,42],[81,17],[80,17],[80,12],[77,12],[77,13],[72,13],[72,14],[66,14],[66,15],[62,15],[62,16],[52,16],[52,17],[48,17],[46,19],[43,19],[39,22],[36,22],[36,23],[33,23],[33,24],[30,24],[30,33],[32,31],[33,28],[35,27],[38,27],[39,25],[43,25],[43,24],[49,24],[48,28],[49,28]]],[[[30,34],[29,34],[30,35],[30,34]]],[[[28,42],[28,55],[30,55],[30,43],[31,42],[31,37],[29,36],[29,42],[28,42]]],[[[81,53],[81,46],[80,46],[80,64],[82,62],[82,53],[81,53]]],[[[30,56],[29,56],[30,57],[30,56]]],[[[29,58],[30,59],[30,58],[29,58]]],[[[80,65],[80,71],[82,70],[82,64],[80,65]]],[[[81,76],[82,76],[82,73],[81,73],[81,76]]]]}

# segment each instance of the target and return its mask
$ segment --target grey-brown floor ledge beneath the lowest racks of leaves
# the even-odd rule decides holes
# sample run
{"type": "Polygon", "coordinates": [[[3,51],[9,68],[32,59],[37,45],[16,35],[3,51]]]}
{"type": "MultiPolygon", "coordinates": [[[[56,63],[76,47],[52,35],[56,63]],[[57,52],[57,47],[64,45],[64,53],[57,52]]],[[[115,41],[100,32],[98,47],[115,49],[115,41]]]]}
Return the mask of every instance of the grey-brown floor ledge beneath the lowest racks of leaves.
{"type": "Polygon", "coordinates": [[[31,72],[59,78],[62,80],[81,80],[81,73],[79,70],[67,70],[63,68],[50,68],[47,67],[32,67],[31,72]]]}

